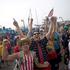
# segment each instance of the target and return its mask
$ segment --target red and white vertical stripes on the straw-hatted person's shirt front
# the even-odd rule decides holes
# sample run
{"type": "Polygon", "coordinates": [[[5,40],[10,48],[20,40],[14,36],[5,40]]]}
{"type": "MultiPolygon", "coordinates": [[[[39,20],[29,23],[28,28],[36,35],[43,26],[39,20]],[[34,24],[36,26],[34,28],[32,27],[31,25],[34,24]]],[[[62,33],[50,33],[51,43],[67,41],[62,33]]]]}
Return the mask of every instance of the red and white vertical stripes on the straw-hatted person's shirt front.
{"type": "Polygon", "coordinates": [[[24,55],[20,70],[33,70],[33,55],[24,55]]]}

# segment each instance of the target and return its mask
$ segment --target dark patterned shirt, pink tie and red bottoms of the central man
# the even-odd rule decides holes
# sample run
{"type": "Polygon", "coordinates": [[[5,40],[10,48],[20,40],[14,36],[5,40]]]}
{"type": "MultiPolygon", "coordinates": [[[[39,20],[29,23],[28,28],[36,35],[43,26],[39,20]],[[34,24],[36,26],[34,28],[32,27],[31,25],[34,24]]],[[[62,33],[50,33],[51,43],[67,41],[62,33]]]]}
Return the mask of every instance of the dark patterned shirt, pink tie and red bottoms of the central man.
{"type": "MultiPolygon", "coordinates": [[[[38,63],[40,64],[46,64],[45,62],[48,61],[47,59],[47,38],[44,37],[43,39],[39,40],[39,41],[34,41],[32,40],[31,45],[30,45],[30,50],[36,52],[36,57],[38,58],[38,63]]],[[[43,68],[39,68],[39,67],[35,67],[35,70],[51,70],[50,65],[48,65],[47,67],[43,67],[43,68]]]]}

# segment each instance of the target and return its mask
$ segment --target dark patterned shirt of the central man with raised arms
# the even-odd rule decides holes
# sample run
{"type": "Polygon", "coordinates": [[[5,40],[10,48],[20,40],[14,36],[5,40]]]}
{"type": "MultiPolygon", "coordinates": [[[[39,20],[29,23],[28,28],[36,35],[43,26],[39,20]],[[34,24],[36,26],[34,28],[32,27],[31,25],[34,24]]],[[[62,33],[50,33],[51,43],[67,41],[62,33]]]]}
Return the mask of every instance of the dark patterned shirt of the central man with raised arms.
{"type": "Polygon", "coordinates": [[[39,40],[38,42],[32,40],[31,45],[30,45],[30,50],[36,52],[36,57],[38,57],[38,62],[40,62],[40,54],[42,53],[42,58],[43,61],[47,61],[47,50],[46,50],[46,46],[47,46],[47,38],[44,37],[43,39],[39,40]],[[40,52],[39,52],[40,51],[40,52]]]}

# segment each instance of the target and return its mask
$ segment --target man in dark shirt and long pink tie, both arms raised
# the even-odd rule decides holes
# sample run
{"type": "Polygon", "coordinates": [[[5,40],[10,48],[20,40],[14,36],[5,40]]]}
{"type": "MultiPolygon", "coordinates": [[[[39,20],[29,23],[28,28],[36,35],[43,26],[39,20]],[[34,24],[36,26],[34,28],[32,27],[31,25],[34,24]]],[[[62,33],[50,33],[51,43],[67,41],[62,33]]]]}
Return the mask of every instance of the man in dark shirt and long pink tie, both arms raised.
{"type": "Polygon", "coordinates": [[[53,23],[50,24],[49,30],[46,33],[44,38],[40,38],[40,32],[34,31],[32,32],[32,23],[33,19],[28,21],[29,22],[29,37],[31,38],[31,45],[30,45],[30,50],[36,52],[36,61],[35,61],[35,70],[51,70],[50,63],[48,62],[48,53],[47,53],[47,42],[48,38],[51,34],[52,31],[52,25],[53,23]]]}

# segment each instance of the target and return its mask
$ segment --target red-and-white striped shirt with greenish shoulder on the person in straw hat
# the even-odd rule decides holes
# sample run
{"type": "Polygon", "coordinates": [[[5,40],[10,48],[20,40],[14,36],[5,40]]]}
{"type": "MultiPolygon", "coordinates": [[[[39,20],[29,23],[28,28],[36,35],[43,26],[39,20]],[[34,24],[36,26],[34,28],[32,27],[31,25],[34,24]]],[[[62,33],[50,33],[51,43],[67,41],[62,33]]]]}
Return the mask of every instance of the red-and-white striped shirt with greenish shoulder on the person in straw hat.
{"type": "Polygon", "coordinates": [[[26,55],[20,52],[20,70],[33,70],[33,54],[26,55]]]}

